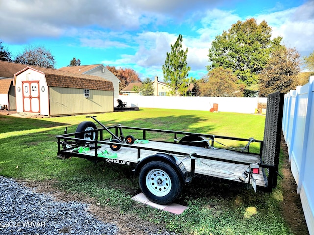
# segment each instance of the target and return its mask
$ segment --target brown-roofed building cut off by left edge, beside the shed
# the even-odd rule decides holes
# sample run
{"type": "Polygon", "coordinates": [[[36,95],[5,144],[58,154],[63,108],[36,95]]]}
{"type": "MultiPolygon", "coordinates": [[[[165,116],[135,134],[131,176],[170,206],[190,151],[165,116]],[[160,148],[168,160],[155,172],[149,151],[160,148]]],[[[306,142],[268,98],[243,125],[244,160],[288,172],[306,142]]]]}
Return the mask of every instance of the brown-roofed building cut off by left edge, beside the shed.
{"type": "Polygon", "coordinates": [[[15,110],[15,90],[12,87],[13,76],[26,67],[24,64],[17,64],[0,60],[0,104],[7,105],[7,109],[15,110]]]}

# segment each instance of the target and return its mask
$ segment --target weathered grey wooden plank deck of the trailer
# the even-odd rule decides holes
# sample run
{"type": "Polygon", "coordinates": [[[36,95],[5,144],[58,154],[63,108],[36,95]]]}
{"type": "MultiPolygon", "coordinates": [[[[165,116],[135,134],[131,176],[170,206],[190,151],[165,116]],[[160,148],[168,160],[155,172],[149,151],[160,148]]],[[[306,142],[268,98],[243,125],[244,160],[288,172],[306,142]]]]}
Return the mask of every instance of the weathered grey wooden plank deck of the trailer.
{"type": "MultiPolygon", "coordinates": [[[[104,141],[102,141],[104,143],[104,141]]],[[[239,177],[250,166],[251,163],[260,163],[260,157],[256,154],[241,153],[225,149],[202,148],[176,143],[149,141],[145,144],[122,144],[118,151],[112,151],[108,144],[101,144],[98,153],[107,150],[109,153],[116,153],[117,160],[132,163],[138,162],[138,156],[145,158],[157,152],[170,153],[176,156],[185,166],[188,172],[191,171],[190,153],[196,153],[195,173],[226,180],[241,182],[239,177]],[[140,153],[139,153],[140,151],[140,153]]],[[[71,152],[73,150],[63,150],[71,152]]],[[[90,150],[86,155],[94,156],[95,150],[90,150]]],[[[84,157],[81,156],[81,157],[84,157]]],[[[99,158],[99,157],[98,157],[99,158]]],[[[102,158],[102,160],[104,160],[102,158]]],[[[262,169],[259,174],[253,175],[257,186],[266,187],[262,169]]],[[[246,180],[246,182],[248,179],[246,180]]]]}

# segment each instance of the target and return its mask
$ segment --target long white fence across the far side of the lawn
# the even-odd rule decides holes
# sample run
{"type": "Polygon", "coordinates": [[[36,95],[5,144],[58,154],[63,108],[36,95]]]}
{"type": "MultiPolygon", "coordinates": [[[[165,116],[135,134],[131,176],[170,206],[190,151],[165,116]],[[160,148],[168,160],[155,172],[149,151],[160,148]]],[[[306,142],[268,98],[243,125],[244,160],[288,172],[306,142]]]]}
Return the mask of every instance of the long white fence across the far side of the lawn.
{"type": "MultiPolygon", "coordinates": [[[[267,98],[236,98],[236,97],[173,97],[173,96],[132,96],[119,95],[127,106],[139,108],[164,108],[183,110],[210,111],[218,104],[220,112],[236,112],[254,114],[258,103],[267,103],[267,98]]],[[[117,103],[116,103],[117,105],[117,103]]],[[[115,105],[115,106],[116,106],[115,105]]]]}

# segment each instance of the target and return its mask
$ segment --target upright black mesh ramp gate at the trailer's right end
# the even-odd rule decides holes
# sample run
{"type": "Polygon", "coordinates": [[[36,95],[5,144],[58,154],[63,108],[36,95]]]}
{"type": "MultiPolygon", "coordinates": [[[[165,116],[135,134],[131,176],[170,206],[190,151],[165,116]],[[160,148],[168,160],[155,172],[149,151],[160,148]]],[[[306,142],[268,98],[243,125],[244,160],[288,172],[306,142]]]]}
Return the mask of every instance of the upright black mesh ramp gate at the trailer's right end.
{"type": "MultiPolygon", "coordinates": [[[[264,164],[273,165],[275,167],[275,172],[278,172],[279,164],[283,106],[283,93],[277,91],[268,95],[262,160],[264,164]]],[[[272,187],[276,187],[277,174],[274,175],[272,182],[270,181],[271,180],[268,180],[268,184],[271,184],[272,187]]]]}

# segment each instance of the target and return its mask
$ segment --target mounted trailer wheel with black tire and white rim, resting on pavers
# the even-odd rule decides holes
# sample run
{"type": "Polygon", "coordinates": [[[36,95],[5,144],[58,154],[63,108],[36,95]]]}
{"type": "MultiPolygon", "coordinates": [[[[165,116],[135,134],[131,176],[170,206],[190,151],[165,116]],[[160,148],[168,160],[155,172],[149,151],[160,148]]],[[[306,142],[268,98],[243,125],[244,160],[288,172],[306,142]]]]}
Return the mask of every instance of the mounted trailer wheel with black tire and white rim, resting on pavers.
{"type": "Polygon", "coordinates": [[[180,195],[183,181],[171,165],[161,161],[152,161],[141,169],[139,186],[149,200],[167,205],[180,195]]]}

